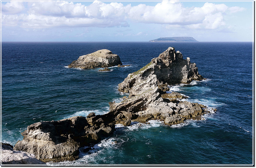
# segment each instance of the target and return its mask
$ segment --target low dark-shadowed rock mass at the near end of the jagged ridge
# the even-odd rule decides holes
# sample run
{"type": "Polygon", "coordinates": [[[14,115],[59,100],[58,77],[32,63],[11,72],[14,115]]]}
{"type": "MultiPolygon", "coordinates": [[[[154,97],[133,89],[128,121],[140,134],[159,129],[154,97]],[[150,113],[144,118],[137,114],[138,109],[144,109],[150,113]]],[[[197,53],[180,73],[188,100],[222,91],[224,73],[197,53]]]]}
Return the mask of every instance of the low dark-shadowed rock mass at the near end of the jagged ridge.
{"type": "Polygon", "coordinates": [[[22,141],[14,150],[32,153],[43,162],[61,162],[78,158],[79,148],[96,144],[115,130],[104,116],[90,113],[59,121],[37,122],[22,132],[22,141]]]}

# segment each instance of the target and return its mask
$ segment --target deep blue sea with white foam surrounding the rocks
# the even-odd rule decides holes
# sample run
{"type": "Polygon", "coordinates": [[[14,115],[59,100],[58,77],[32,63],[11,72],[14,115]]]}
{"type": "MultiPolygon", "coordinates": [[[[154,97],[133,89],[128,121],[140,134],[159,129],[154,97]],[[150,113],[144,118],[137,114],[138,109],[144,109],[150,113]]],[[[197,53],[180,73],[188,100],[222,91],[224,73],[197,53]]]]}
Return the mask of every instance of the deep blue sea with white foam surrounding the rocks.
{"type": "Polygon", "coordinates": [[[217,112],[171,127],[156,121],[120,127],[94,151],[61,164],[254,164],[251,42],[3,42],[2,142],[15,145],[35,122],[108,112],[108,102],[124,96],[118,84],[169,46],[207,78],[171,90],[217,112]],[[132,66],[66,67],[100,49],[132,66]]]}

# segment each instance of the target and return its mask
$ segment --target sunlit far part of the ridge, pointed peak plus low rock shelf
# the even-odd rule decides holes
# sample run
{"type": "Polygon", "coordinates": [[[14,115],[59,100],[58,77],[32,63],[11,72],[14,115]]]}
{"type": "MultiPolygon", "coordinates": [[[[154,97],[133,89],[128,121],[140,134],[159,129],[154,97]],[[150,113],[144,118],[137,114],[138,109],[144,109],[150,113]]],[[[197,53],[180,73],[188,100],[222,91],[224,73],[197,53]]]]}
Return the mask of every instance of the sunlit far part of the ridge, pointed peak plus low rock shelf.
{"type": "Polygon", "coordinates": [[[129,93],[129,96],[120,103],[110,102],[110,112],[132,114],[130,117],[123,115],[116,122],[121,122],[120,118],[138,122],[162,120],[165,124],[172,125],[190,118],[196,119],[208,112],[205,106],[181,101],[186,97],[166,91],[169,90],[168,85],[202,79],[196,64],[190,63],[190,58],[184,60],[180,52],[169,47],[137,72],[128,74],[118,84],[118,90],[129,93]]]}

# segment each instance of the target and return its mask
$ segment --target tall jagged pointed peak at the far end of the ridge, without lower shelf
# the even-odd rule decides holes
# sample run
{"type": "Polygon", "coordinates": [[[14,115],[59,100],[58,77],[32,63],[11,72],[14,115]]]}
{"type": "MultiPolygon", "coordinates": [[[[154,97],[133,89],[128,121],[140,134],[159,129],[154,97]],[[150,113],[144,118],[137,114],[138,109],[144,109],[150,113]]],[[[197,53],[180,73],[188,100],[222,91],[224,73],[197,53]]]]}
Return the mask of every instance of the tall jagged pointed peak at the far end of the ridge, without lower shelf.
{"type": "Polygon", "coordinates": [[[128,75],[127,78],[118,84],[120,92],[131,92],[131,88],[136,88],[138,84],[146,82],[148,79],[156,78],[155,84],[188,84],[192,80],[202,80],[203,77],[198,74],[198,68],[195,63],[190,63],[190,58],[183,59],[179,51],[169,47],[157,58],[138,70],[128,75]],[[158,82],[158,83],[157,83],[158,82]]]}

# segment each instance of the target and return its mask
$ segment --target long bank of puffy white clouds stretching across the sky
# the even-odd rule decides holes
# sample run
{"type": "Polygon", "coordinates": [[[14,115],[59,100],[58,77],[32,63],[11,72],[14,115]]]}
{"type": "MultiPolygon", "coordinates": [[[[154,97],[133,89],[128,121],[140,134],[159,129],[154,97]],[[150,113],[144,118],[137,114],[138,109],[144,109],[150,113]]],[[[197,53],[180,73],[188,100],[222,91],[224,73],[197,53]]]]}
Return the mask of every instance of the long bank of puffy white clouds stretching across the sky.
{"type": "Polygon", "coordinates": [[[225,25],[225,14],[243,11],[238,6],[206,2],[202,7],[185,8],[181,2],[164,0],[155,6],[122,3],[106,4],[95,0],[89,6],[66,1],[28,2],[26,13],[21,2],[8,2],[2,6],[5,26],[24,28],[51,27],[128,27],[128,22],[165,24],[166,28],[217,29],[225,25]],[[14,10],[11,10],[14,9],[14,10]],[[169,26],[168,26],[169,25],[169,26]]]}

